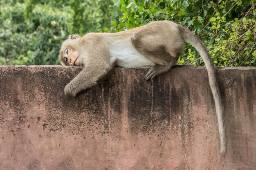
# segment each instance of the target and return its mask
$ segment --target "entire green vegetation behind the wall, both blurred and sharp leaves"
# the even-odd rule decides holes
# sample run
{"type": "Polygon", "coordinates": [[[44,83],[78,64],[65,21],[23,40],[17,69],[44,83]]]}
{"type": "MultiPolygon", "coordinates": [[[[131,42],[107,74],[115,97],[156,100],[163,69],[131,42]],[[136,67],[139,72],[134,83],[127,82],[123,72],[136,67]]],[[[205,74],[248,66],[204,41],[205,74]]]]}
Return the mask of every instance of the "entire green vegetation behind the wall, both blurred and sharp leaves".
{"type": "MultiPolygon", "coordinates": [[[[254,0],[1,0],[0,65],[60,64],[70,34],[117,32],[153,20],[193,31],[216,66],[256,66],[254,0]]],[[[203,66],[187,44],[178,64],[203,66]]]]}

